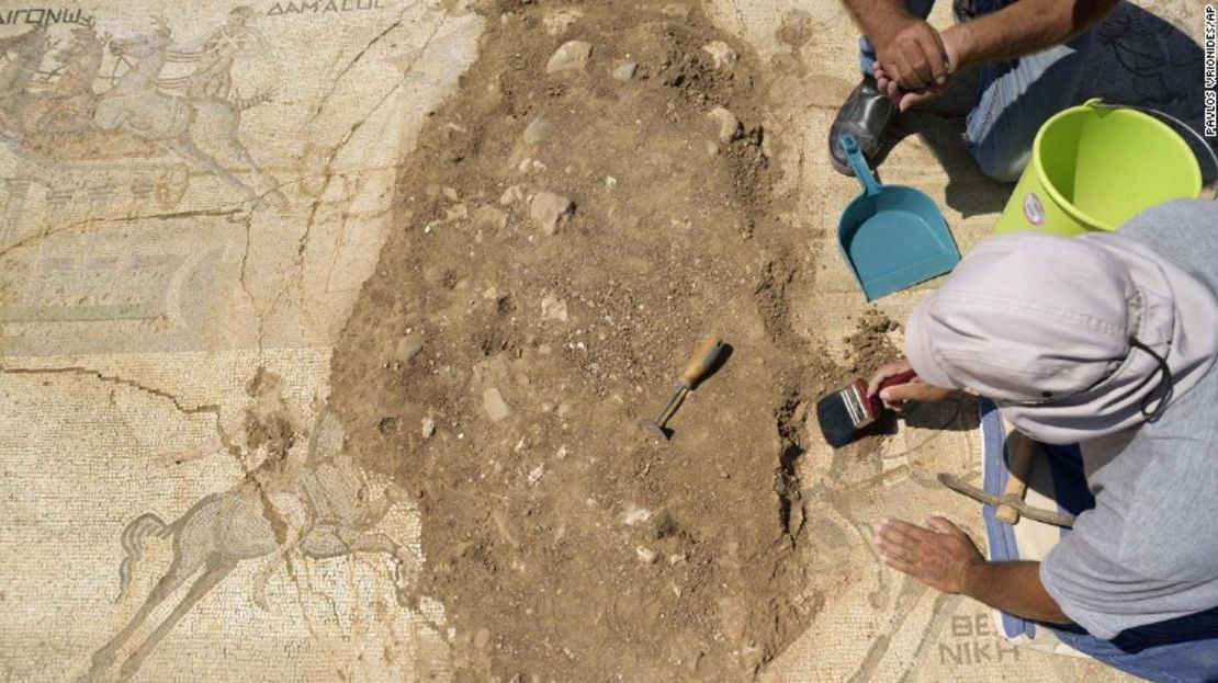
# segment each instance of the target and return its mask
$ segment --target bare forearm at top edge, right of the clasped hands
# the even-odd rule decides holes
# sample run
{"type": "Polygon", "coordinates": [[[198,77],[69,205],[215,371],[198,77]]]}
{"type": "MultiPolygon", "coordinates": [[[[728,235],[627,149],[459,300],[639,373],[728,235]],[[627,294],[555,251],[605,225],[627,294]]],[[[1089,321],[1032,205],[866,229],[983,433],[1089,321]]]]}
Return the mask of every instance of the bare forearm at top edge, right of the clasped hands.
{"type": "Polygon", "coordinates": [[[955,26],[956,68],[1013,60],[1060,45],[1100,22],[1118,0],[1019,0],[955,26]]]}

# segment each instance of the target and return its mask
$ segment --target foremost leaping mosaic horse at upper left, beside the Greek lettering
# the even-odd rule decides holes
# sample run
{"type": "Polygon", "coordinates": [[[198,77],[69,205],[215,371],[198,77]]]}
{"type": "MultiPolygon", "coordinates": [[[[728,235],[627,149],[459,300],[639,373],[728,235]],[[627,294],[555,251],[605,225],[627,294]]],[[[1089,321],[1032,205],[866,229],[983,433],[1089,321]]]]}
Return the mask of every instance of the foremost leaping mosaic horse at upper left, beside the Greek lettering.
{"type": "MultiPolygon", "coordinates": [[[[163,141],[178,156],[235,187],[255,206],[264,206],[255,187],[224,168],[199,142],[227,150],[264,185],[274,187],[274,179],[258,168],[238,138],[241,112],[268,101],[269,91],[250,99],[183,97],[166,93],[157,85],[157,77],[168,61],[172,32],[163,19],[153,17],[153,22],[156,29],[150,34],[110,41],[110,51],[128,69],[97,99],[93,124],[101,130],[127,130],[150,141],[163,141]]],[[[276,189],[266,195],[276,205],[286,203],[276,189]]]]}

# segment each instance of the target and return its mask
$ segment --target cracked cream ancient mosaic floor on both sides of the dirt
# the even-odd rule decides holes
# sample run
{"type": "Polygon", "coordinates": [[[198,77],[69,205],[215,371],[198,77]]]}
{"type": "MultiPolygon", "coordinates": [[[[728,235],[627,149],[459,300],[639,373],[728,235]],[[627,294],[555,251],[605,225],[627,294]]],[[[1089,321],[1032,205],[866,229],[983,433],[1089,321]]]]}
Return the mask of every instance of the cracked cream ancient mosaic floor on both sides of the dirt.
{"type": "MultiPolygon", "coordinates": [[[[1177,38],[1200,32],[1201,4],[1142,6],[1167,21],[1122,11],[1086,86],[1188,108],[1200,67],[1177,38]]],[[[815,67],[775,88],[770,129],[789,142],[784,183],[822,189],[799,194],[795,220],[833,253],[856,192],[821,162],[855,79],[847,16],[827,0],[708,13],[764,60],[815,67]]],[[[0,677],[452,679],[443,606],[396,599],[424,561],[408,499],[358,499],[373,475],[341,459],[242,482],[268,452],[341,452],[333,343],[392,229],[397,163],[476,58],[484,18],[463,0],[21,0],[0,19],[0,677]],[[294,538],[318,509],[330,536],[294,538]]],[[[967,248],[1005,196],[944,144],[948,119],[921,116],[885,180],[934,196],[967,248]]],[[[840,340],[861,298],[822,262],[798,324],[840,340]]],[[[881,307],[901,319],[916,299],[881,307]]],[[[814,569],[859,569],[762,678],[1107,676],[1002,644],[985,610],[879,570],[859,543],[883,515],[968,517],[924,472],[976,468],[977,435],[932,436],[904,429],[857,496],[809,504],[839,548],[814,569]]]]}

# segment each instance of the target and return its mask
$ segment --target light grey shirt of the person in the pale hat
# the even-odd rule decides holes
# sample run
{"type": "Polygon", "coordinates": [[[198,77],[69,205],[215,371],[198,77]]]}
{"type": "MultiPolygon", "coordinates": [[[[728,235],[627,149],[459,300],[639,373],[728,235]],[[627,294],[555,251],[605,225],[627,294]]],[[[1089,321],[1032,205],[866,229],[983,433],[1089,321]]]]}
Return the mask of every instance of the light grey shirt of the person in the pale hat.
{"type": "MultiPolygon", "coordinates": [[[[1172,202],[1121,233],[1218,292],[1218,203],[1172,202]]],[[[1083,464],[1095,509],[1040,565],[1062,611],[1112,639],[1218,606],[1218,364],[1157,422],[1083,444],[1083,464]]]]}

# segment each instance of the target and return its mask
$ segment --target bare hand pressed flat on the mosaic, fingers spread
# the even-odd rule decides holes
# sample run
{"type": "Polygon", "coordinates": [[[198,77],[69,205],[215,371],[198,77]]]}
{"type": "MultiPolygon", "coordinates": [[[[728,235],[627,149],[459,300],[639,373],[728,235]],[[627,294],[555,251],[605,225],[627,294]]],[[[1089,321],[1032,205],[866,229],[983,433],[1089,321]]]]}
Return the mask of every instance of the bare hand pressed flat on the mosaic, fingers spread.
{"type": "Polygon", "coordinates": [[[971,569],[985,564],[977,545],[959,526],[928,515],[927,527],[903,520],[881,520],[875,543],[883,562],[944,593],[963,593],[971,569]]]}

